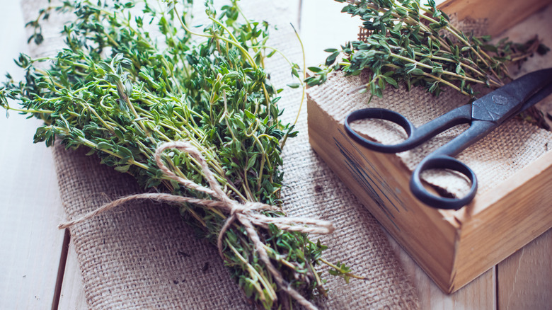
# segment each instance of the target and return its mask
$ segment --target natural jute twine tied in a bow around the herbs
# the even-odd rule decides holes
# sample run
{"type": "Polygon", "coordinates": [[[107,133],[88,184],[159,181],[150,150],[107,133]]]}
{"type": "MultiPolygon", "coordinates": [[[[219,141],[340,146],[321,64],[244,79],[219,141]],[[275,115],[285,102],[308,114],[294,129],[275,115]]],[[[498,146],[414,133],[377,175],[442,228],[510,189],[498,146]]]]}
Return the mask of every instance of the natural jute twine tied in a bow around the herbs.
{"type": "Polygon", "coordinates": [[[246,229],[249,238],[255,246],[255,251],[258,252],[260,259],[263,260],[268,270],[276,280],[277,284],[282,289],[284,289],[287,294],[297,300],[299,304],[305,306],[306,309],[316,309],[316,306],[314,306],[314,304],[311,304],[311,302],[306,300],[303,296],[301,296],[301,294],[299,294],[299,292],[293,289],[291,285],[289,285],[289,283],[284,280],[282,274],[274,267],[274,265],[272,265],[272,263],[270,262],[270,258],[268,257],[268,254],[264,248],[265,245],[262,241],[260,241],[260,237],[255,230],[255,225],[267,229],[268,224],[274,224],[279,229],[286,231],[301,231],[304,233],[313,234],[330,234],[334,231],[334,227],[331,222],[318,219],[309,219],[305,217],[268,217],[265,214],[260,213],[260,211],[282,212],[282,210],[279,207],[265,205],[260,202],[240,203],[236,200],[230,199],[230,197],[228,197],[228,195],[224,193],[224,190],[222,190],[217,179],[214,178],[213,173],[209,170],[207,161],[202,156],[201,152],[196,147],[192,146],[190,142],[179,141],[166,142],[161,144],[156,149],[155,161],[157,163],[157,166],[159,166],[159,168],[161,168],[161,171],[163,171],[164,176],[166,176],[167,178],[171,180],[176,180],[176,182],[178,182],[180,185],[185,186],[186,188],[199,190],[203,193],[209,194],[211,195],[211,197],[214,198],[214,200],[183,197],[179,195],[163,193],[128,195],[126,197],[122,197],[118,200],[105,204],[98,209],[93,210],[92,212],[88,212],[79,219],[74,219],[69,222],[61,223],[58,225],[58,228],[65,229],[71,227],[75,224],[84,222],[87,219],[96,217],[96,215],[106,212],[117,206],[124,205],[126,202],[139,199],[156,200],[159,202],[188,202],[205,207],[216,207],[219,208],[221,211],[226,212],[226,214],[229,214],[229,217],[226,219],[224,226],[222,226],[217,240],[217,246],[219,248],[220,256],[222,256],[222,258],[224,259],[224,256],[222,254],[222,240],[224,238],[224,233],[226,232],[226,229],[228,229],[229,226],[237,219],[238,222],[240,222],[246,229]],[[187,152],[190,156],[196,159],[197,162],[200,163],[202,172],[204,173],[205,178],[207,178],[207,182],[209,183],[210,188],[206,188],[205,186],[199,185],[195,182],[192,182],[191,180],[181,178],[180,176],[177,176],[175,173],[173,173],[173,171],[170,171],[167,166],[165,166],[163,161],[161,161],[161,154],[163,154],[163,151],[165,151],[166,149],[179,149],[180,151],[187,152]]]}

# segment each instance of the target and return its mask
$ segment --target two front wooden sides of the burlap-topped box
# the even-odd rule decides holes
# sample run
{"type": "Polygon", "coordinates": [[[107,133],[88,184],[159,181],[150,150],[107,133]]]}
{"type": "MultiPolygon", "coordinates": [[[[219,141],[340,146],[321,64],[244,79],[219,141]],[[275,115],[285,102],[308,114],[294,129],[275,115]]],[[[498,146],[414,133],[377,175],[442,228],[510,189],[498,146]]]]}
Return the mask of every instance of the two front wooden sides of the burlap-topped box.
{"type": "Polygon", "coordinates": [[[396,155],[369,151],[347,136],[343,119],[333,116],[338,107],[309,96],[311,146],[444,292],[552,227],[552,151],[458,211],[433,209],[410,193],[410,171],[396,155]]]}

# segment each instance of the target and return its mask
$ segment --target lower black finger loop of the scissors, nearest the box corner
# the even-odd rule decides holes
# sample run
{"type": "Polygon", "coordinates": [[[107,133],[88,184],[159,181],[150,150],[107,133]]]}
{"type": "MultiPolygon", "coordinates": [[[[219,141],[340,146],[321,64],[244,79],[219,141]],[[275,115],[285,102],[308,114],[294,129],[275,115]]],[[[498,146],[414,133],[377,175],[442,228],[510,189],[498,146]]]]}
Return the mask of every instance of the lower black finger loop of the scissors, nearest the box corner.
{"type": "Polygon", "coordinates": [[[426,157],[418,166],[415,168],[412,178],[410,178],[410,191],[415,197],[417,197],[421,202],[424,202],[430,207],[435,207],[439,209],[460,209],[467,205],[477,193],[477,178],[476,173],[474,173],[471,168],[466,166],[465,163],[454,159],[450,156],[445,155],[436,155],[426,157]],[[463,174],[470,180],[471,187],[468,193],[464,197],[460,198],[449,198],[441,197],[438,195],[433,195],[430,193],[422,184],[421,174],[423,171],[429,169],[449,169],[463,174]]]}

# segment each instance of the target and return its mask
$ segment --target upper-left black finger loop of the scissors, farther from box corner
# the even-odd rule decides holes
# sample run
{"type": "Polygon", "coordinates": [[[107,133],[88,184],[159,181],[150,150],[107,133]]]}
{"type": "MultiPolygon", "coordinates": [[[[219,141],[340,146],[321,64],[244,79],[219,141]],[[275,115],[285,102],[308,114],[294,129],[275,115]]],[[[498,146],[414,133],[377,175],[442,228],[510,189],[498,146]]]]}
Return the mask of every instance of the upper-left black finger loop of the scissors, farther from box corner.
{"type": "Polygon", "coordinates": [[[366,108],[355,110],[347,115],[347,117],[345,118],[345,132],[347,132],[347,134],[349,134],[349,136],[356,142],[362,144],[363,147],[371,149],[372,151],[379,151],[381,153],[398,153],[412,148],[410,147],[410,145],[405,145],[405,142],[407,142],[408,139],[405,142],[401,142],[400,144],[381,144],[370,141],[369,139],[366,139],[355,132],[355,130],[352,130],[350,125],[352,122],[355,122],[355,120],[365,119],[389,120],[391,122],[394,122],[395,124],[403,127],[403,130],[405,130],[408,138],[410,138],[412,133],[415,131],[414,125],[412,124],[412,122],[410,122],[410,120],[408,120],[408,118],[404,117],[400,113],[396,113],[393,110],[381,108],[366,108]]]}

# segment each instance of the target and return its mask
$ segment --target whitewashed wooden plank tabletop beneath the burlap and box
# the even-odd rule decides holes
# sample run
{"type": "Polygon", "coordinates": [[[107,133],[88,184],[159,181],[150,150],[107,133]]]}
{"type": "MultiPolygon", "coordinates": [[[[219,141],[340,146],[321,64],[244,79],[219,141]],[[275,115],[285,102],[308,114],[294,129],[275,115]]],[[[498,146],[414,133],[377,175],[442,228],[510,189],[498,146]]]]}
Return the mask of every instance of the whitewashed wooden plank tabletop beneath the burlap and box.
{"type": "MultiPolygon", "coordinates": [[[[0,3],[4,76],[16,71],[12,59],[27,47],[19,0],[0,3]]],[[[340,6],[330,0],[301,1],[298,20],[309,65],[323,61],[324,49],[355,38],[357,26],[339,13],[340,6]]],[[[14,75],[21,77],[21,72],[14,75]]],[[[76,255],[67,234],[56,228],[64,214],[52,154],[32,143],[40,123],[1,114],[0,309],[86,309],[76,255]]],[[[452,295],[443,294],[391,243],[415,283],[422,309],[552,309],[551,230],[452,295]]]]}

